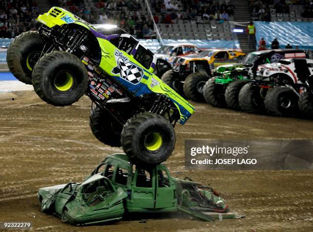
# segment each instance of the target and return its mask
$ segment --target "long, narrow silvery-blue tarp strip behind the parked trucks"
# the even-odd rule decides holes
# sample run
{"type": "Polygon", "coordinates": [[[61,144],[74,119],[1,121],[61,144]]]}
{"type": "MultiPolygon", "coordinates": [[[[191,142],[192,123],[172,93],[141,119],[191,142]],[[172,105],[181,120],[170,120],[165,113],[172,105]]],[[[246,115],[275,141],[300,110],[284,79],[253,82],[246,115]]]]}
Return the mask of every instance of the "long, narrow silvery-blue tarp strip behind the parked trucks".
{"type": "MultiPolygon", "coordinates": [[[[139,39],[145,47],[149,48],[152,52],[155,52],[161,47],[161,44],[157,39],[139,39]]],[[[238,40],[199,40],[199,39],[163,39],[164,44],[184,42],[197,45],[198,48],[226,48],[226,49],[240,49],[238,40]]]]}

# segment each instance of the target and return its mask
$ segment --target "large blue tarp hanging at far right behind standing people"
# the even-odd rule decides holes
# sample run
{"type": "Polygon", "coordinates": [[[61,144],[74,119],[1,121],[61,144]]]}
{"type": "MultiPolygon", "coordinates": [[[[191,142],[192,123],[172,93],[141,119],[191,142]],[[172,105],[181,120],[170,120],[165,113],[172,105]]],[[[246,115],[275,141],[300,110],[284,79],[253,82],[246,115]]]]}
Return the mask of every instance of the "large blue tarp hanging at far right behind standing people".
{"type": "Polygon", "coordinates": [[[264,38],[266,47],[270,48],[277,38],[279,47],[284,49],[289,43],[300,49],[313,49],[313,22],[263,22],[255,21],[256,39],[264,38]]]}

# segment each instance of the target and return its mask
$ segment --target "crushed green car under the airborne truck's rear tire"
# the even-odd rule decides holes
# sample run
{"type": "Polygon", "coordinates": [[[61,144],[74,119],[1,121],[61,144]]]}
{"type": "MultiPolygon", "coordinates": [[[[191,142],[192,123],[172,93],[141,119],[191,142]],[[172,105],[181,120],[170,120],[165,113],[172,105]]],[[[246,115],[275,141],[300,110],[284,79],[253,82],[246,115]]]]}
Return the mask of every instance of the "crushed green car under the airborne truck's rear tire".
{"type": "Polygon", "coordinates": [[[164,164],[133,165],[125,154],[108,155],[82,183],[40,188],[38,199],[42,212],[74,225],[116,221],[131,213],[181,211],[207,221],[238,217],[212,188],[174,178],[164,164]]]}

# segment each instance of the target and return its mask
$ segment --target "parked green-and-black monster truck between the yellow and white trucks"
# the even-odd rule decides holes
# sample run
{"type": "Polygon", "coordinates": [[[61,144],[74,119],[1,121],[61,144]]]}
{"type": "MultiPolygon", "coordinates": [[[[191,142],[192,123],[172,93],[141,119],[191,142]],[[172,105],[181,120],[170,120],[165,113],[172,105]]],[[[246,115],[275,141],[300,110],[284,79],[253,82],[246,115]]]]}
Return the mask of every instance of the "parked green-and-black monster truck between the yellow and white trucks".
{"type": "Polygon", "coordinates": [[[297,49],[257,51],[249,53],[242,63],[221,65],[214,71],[213,78],[205,84],[204,98],[213,106],[240,109],[240,89],[247,84],[250,76],[256,74],[258,65],[293,57],[306,57],[306,54],[297,49]]]}

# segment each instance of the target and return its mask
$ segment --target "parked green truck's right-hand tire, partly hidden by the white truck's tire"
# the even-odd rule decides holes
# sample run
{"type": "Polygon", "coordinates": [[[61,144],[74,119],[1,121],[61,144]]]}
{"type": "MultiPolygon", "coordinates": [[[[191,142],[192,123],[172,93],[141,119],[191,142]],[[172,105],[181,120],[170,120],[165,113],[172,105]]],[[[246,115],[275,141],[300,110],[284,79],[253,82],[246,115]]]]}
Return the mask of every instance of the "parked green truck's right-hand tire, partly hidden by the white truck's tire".
{"type": "Polygon", "coordinates": [[[247,81],[237,80],[229,83],[225,91],[225,101],[227,105],[232,109],[240,109],[239,106],[239,92],[243,85],[247,84],[247,81]]]}

